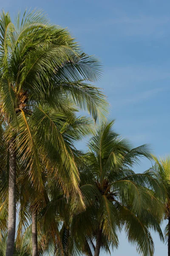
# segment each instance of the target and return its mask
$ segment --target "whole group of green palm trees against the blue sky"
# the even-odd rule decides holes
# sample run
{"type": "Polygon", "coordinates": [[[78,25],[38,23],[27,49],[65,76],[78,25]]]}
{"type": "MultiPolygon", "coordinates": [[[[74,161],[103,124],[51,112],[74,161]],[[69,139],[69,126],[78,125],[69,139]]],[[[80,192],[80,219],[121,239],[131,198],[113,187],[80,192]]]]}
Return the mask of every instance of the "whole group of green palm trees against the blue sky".
{"type": "Polygon", "coordinates": [[[122,233],[170,256],[170,157],[116,131],[103,72],[40,9],[1,11],[0,256],[116,255],[122,233]]]}

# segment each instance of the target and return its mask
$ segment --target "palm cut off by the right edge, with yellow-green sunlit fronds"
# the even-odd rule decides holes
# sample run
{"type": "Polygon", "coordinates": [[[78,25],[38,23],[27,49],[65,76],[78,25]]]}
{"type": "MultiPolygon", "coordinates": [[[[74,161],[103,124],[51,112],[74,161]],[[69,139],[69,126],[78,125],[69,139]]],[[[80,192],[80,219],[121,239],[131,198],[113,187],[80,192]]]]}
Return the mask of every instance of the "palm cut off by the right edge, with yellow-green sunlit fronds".
{"type": "Polygon", "coordinates": [[[167,226],[165,227],[165,240],[168,246],[168,256],[170,256],[170,157],[160,158],[153,156],[155,160],[154,166],[150,169],[156,178],[164,186],[164,219],[168,220],[167,226]]]}

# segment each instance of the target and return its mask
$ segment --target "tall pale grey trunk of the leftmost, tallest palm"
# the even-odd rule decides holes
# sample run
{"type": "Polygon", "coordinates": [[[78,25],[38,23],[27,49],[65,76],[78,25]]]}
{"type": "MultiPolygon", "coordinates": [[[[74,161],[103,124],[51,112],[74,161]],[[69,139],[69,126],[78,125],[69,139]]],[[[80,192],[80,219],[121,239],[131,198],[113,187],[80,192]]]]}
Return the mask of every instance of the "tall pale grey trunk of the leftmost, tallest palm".
{"type": "Polygon", "coordinates": [[[16,150],[14,138],[9,145],[9,184],[8,184],[8,238],[6,256],[13,256],[16,227],[16,150]]]}

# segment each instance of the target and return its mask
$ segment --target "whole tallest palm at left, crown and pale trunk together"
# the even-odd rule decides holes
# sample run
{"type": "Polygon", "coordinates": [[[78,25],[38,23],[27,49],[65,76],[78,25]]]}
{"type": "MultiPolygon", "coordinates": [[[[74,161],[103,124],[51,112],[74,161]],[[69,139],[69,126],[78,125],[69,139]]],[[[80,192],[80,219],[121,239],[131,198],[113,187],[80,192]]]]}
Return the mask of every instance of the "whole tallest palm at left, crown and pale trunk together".
{"type": "Polygon", "coordinates": [[[17,158],[25,164],[34,186],[42,191],[39,149],[50,149],[47,157],[57,151],[60,166],[72,173],[74,187],[78,188],[74,157],[55,122],[65,116],[70,104],[87,110],[95,120],[99,114],[104,116],[104,96],[88,84],[99,75],[99,62],[83,53],[66,29],[51,25],[41,11],[25,12],[22,18],[19,13],[15,24],[9,13],[2,12],[0,113],[5,123],[9,173],[6,256],[13,255],[14,248],[17,158]]]}

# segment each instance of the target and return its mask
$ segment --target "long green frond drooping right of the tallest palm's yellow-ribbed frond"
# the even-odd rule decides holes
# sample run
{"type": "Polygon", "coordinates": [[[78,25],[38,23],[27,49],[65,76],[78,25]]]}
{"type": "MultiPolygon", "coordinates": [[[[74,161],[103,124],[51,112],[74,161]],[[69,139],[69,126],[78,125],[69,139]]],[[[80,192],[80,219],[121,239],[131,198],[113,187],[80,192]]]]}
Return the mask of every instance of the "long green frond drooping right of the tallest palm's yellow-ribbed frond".
{"type": "MultiPolygon", "coordinates": [[[[45,148],[46,154],[53,160],[52,165],[56,164],[57,168],[61,167],[62,169],[62,166],[64,166],[65,173],[68,172],[68,177],[72,181],[73,189],[78,189],[79,174],[74,162],[74,156],[57,125],[62,118],[65,118],[62,113],[57,113],[55,110],[47,112],[41,108],[36,108],[33,115],[33,120],[37,124],[37,133],[41,134],[40,141],[44,143],[42,148],[45,148]],[[59,157],[59,160],[57,160],[57,157],[59,157]]],[[[54,169],[52,165],[50,168],[54,169]]]]}

